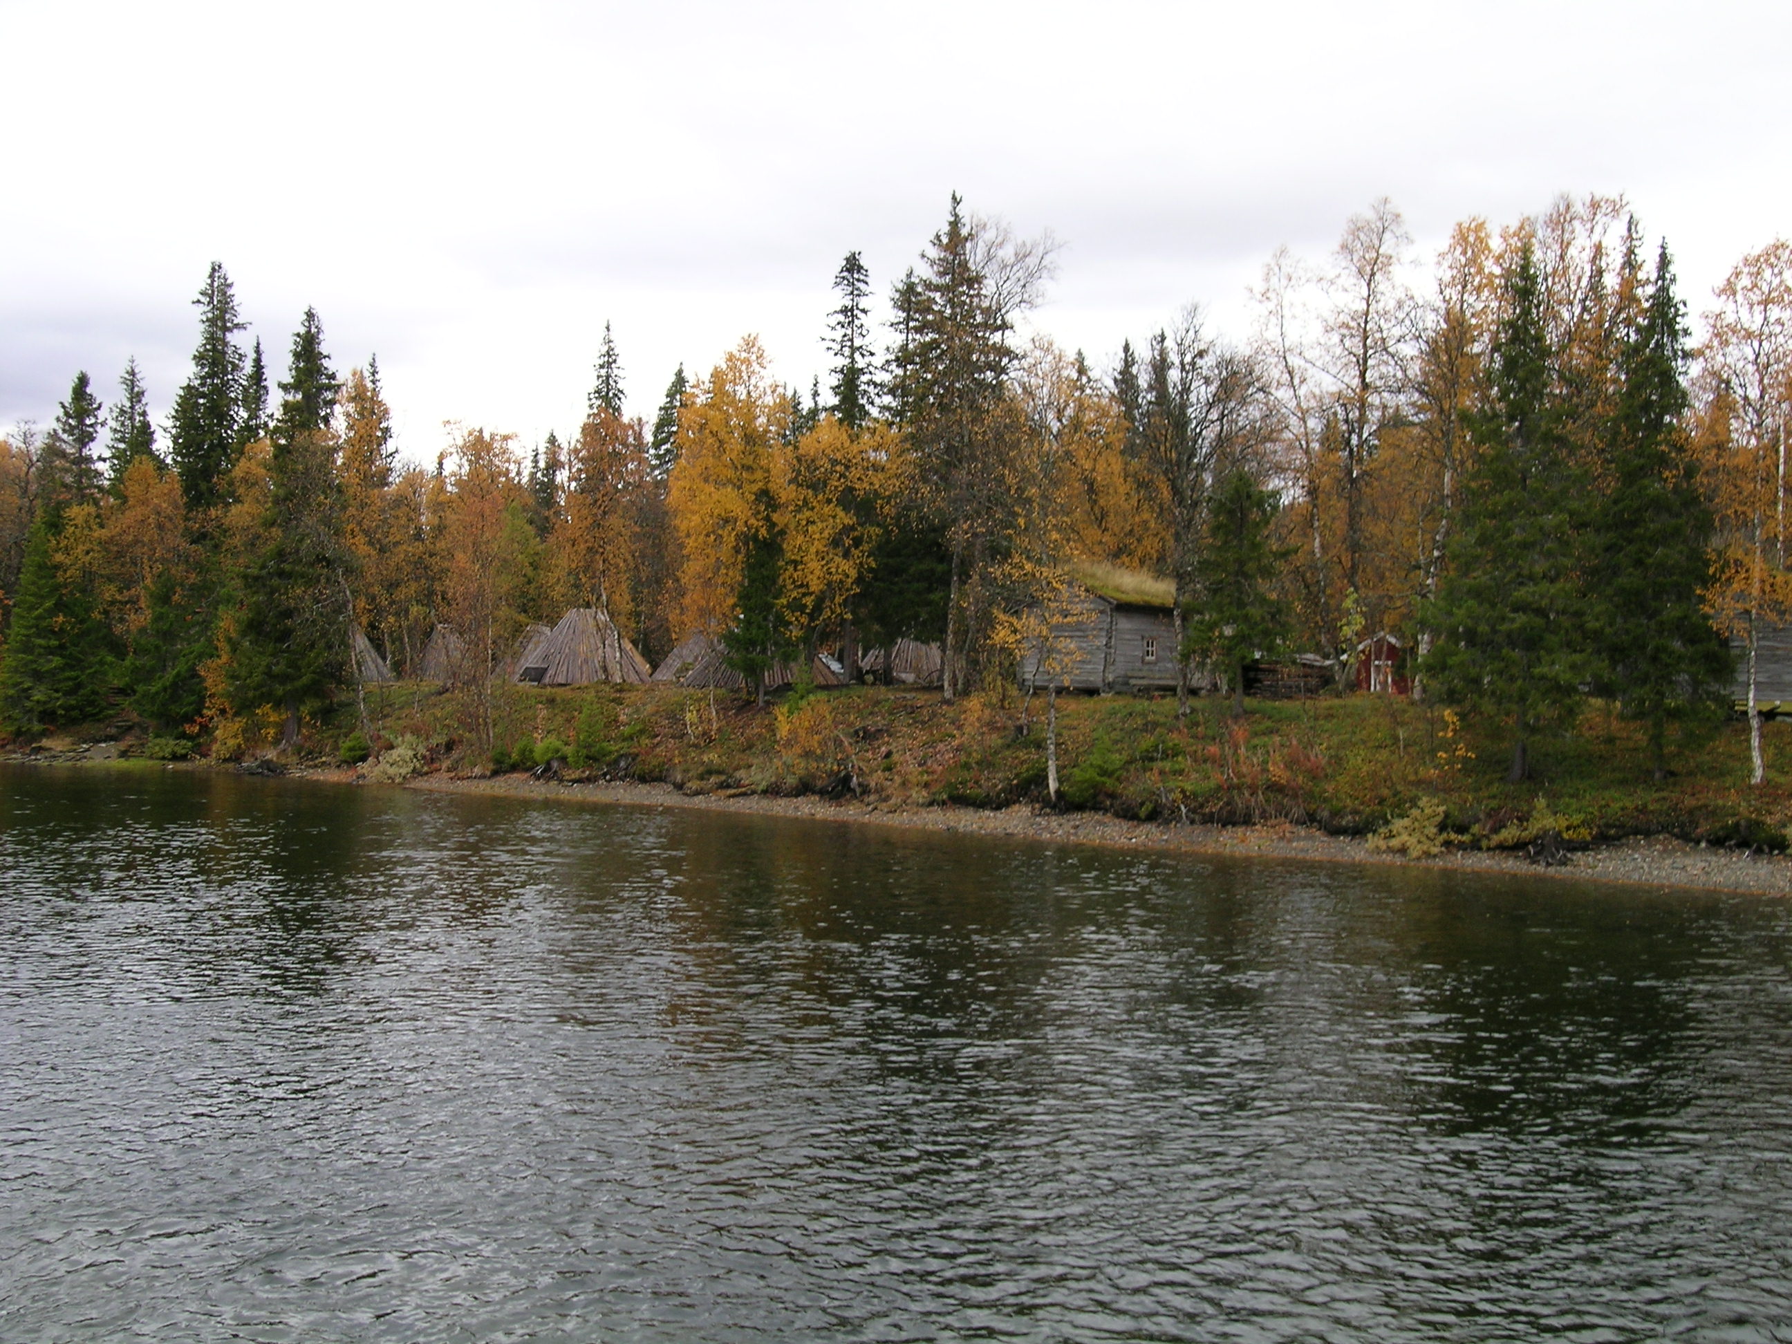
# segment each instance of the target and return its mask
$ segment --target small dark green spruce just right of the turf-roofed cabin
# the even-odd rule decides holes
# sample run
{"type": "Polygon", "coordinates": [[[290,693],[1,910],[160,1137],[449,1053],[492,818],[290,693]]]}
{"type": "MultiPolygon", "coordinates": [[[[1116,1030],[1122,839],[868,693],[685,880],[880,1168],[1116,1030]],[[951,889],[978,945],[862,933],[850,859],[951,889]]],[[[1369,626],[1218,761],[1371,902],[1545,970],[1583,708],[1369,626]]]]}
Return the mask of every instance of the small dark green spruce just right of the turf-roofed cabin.
{"type": "Polygon", "coordinates": [[[1185,615],[1183,652],[1226,674],[1233,711],[1244,713],[1244,668],[1288,634],[1287,607],[1271,593],[1287,550],[1276,547],[1276,495],[1247,471],[1220,482],[1208,505],[1206,545],[1193,564],[1201,595],[1185,615]]]}

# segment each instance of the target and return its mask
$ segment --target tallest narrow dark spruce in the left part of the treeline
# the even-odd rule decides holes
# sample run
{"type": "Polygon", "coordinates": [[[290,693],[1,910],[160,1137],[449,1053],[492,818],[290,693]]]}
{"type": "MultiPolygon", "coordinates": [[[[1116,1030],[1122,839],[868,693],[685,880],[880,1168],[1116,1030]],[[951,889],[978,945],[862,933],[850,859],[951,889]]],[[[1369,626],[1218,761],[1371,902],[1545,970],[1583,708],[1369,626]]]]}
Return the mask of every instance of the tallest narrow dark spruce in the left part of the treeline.
{"type": "Polygon", "coordinates": [[[168,459],[181,477],[188,509],[211,509],[222,502],[224,477],[237,466],[242,448],[244,357],[235,337],[244,330],[237,317],[237,294],[220,262],[211,263],[199,308],[199,348],[194,373],[181,383],[168,414],[168,459]]]}

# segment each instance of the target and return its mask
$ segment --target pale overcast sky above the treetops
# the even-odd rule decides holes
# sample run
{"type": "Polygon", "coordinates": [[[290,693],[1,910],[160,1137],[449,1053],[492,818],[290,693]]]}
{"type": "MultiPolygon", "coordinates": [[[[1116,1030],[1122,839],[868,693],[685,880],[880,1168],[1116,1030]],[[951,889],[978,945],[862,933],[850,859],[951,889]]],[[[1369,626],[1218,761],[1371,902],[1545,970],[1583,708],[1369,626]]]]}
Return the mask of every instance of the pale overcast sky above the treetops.
{"type": "Polygon", "coordinates": [[[378,353],[407,455],[631,410],[756,332],[824,369],[957,190],[1050,229],[1038,326],[1107,364],[1378,195],[1468,215],[1624,192],[1693,312],[1792,233],[1785,4],[13,4],[0,0],[0,425],[136,355],[158,423],[224,262],[276,376],[306,305],[378,353]]]}

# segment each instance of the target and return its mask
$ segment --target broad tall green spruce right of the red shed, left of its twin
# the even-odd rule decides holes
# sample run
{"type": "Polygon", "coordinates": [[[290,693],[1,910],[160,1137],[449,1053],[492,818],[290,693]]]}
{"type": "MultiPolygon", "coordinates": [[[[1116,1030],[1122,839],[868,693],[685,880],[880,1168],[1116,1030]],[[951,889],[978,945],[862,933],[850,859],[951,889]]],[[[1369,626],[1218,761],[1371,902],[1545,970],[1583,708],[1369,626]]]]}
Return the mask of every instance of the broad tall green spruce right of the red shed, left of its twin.
{"type": "Polygon", "coordinates": [[[1446,704],[1511,731],[1507,778],[1518,783],[1532,738],[1572,720],[1593,670],[1577,572],[1590,511],[1586,473],[1563,435],[1529,247],[1505,281],[1505,310],[1489,392],[1469,416],[1478,453],[1462,482],[1450,572],[1426,607],[1439,642],[1425,672],[1446,704]]]}

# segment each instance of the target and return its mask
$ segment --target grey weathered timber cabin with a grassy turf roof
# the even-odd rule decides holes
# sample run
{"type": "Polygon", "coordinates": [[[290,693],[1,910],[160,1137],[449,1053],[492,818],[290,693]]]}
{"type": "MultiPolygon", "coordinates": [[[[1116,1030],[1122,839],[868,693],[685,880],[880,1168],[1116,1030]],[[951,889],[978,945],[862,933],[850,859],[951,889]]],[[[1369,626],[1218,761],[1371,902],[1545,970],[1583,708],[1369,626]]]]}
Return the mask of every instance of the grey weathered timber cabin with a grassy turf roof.
{"type": "Polygon", "coordinates": [[[1072,570],[1077,590],[1054,622],[1054,654],[1020,659],[1020,685],[1045,690],[1176,690],[1176,599],[1168,579],[1113,564],[1072,570]],[[1057,667],[1052,667],[1057,663],[1057,667]]]}

